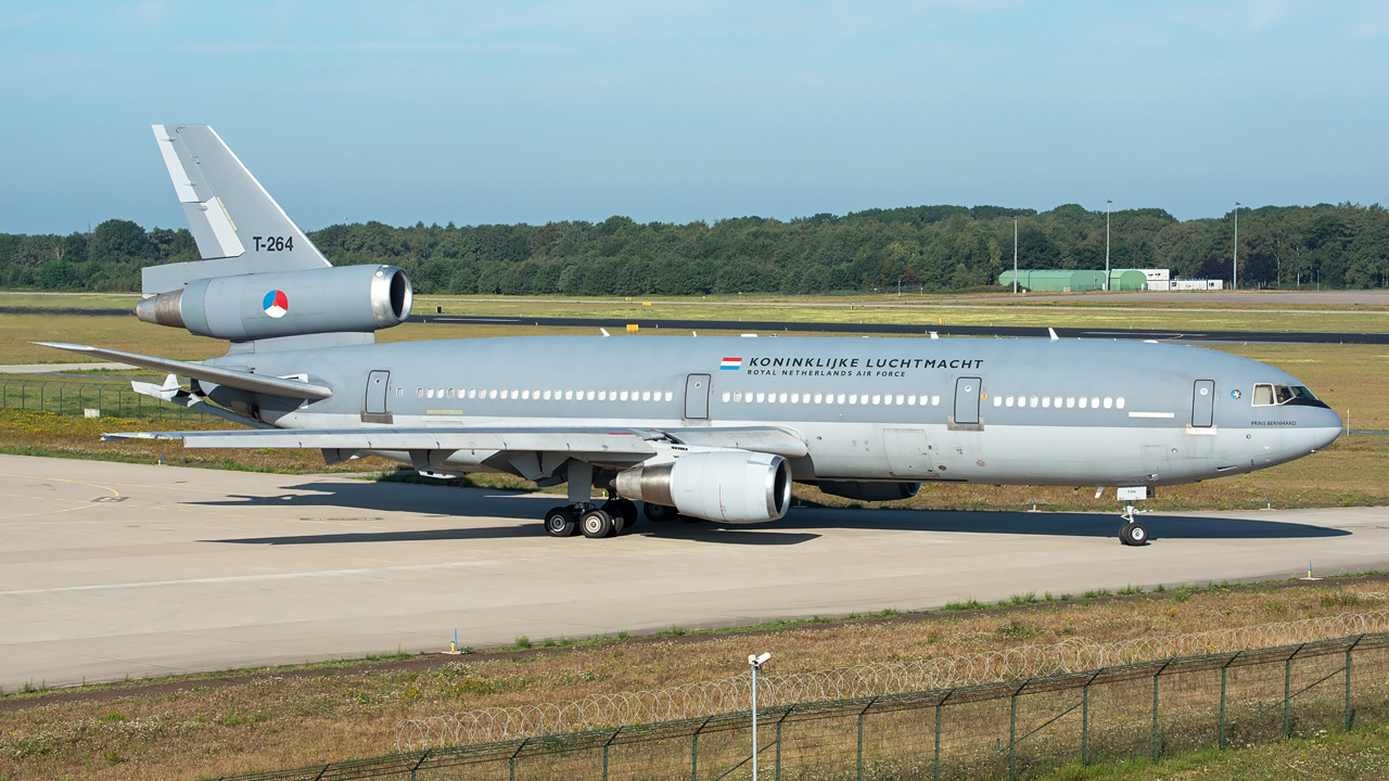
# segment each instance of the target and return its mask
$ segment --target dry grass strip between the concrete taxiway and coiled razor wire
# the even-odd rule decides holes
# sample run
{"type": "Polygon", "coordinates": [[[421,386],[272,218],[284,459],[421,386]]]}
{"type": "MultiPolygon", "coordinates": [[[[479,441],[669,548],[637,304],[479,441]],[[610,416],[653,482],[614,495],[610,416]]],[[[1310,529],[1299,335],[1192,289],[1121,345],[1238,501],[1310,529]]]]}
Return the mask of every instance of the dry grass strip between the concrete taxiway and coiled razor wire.
{"type": "Polygon", "coordinates": [[[447,657],[422,668],[404,668],[396,659],[349,671],[340,664],[311,666],[315,673],[303,677],[271,671],[219,687],[193,680],[183,691],[157,693],[117,684],[106,687],[117,696],[100,703],[0,712],[0,775],[188,778],[299,767],[390,753],[396,724],[406,717],[736,675],[746,670],[753,646],[772,652],[776,673],[797,673],[1068,638],[1114,642],[1335,616],[1347,605],[1379,610],[1389,606],[1389,591],[1382,582],[1331,579],[1292,588],[1182,588],[1126,600],[1058,603],[1018,595],[1004,605],[1006,613],[807,618],[757,627],[756,638],[747,631],[672,628],[665,636],[603,638],[568,649],[556,648],[568,642],[563,638],[518,638],[506,653],[447,657]],[[535,650],[546,646],[554,650],[535,650]],[[122,687],[133,688],[121,693],[122,687]],[[108,762],[110,756],[118,760],[108,762]]]}

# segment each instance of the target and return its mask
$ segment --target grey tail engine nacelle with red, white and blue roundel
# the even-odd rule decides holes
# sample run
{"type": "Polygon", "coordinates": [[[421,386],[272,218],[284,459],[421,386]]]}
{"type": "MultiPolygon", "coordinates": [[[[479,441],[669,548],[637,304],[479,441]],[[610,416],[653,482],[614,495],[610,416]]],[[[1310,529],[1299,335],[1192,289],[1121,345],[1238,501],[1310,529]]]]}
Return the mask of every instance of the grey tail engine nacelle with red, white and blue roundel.
{"type": "Polygon", "coordinates": [[[410,317],[414,290],[394,265],[340,265],[194,279],[142,299],[144,322],[247,342],[306,334],[372,332],[410,317]]]}

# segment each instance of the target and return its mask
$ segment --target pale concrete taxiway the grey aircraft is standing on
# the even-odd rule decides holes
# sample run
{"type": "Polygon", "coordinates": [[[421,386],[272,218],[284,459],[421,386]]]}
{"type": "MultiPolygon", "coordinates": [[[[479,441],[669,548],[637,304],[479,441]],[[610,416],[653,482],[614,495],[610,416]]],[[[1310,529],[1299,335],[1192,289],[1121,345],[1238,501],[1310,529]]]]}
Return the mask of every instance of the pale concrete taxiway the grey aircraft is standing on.
{"type": "Polygon", "coordinates": [[[556,498],[0,456],[0,685],[1389,568],[1389,510],[796,509],[553,539],[556,498]]]}

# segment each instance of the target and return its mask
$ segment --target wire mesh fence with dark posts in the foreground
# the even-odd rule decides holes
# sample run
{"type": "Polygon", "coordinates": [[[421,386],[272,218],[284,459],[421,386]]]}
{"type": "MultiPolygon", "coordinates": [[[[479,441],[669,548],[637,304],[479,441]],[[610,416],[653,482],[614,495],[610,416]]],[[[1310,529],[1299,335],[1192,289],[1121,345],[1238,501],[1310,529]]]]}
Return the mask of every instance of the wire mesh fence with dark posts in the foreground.
{"type": "MultiPolygon", "coordinates": [[[[745,678],[745,687],[747,680],[745,678]]],[[[1070,763],[1314,737],[1389,720],[1389,632],[1007,682],[758,710],[760,777],[1017,778],[1070,763]]],[[[751,777],[751,713],[401,752],[225,777],[636,780],[751,777]]]]}

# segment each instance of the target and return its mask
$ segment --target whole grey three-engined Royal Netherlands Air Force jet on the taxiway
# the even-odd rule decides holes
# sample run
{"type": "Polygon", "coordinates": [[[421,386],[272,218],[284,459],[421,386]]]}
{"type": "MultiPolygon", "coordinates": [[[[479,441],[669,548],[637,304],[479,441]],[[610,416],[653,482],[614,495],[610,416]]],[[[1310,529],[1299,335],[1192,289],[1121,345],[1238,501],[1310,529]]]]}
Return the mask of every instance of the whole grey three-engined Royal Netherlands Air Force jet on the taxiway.
{"type": "MultiPolygon", "coordinates": [[[[410,315],[393,265],[332,267],[206,125],[154,125],[204,260],[150,267],[136,315],[229,339],[138,392],[249,431],[111,434],[186,447],[378,454],[426,475],[568,484],[553,536],[621,534],[644,503],[781,518],[792,482],[858,500],[921,482],[1117,488],[1120,539],[1157,486],[1315,453],[1340,418],[1292,375],[1192,346],[1053,339],[526,336],[378,345],[410,315]],[[183,389],[178,378],[189,378],[183,389]],[[607,500],[592,500],[594,488],[607,500]]],[[[1097,493],[1099,495],[1099,493],[1097,493]]]]}

